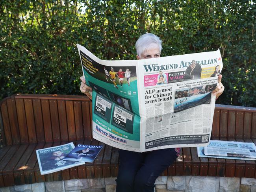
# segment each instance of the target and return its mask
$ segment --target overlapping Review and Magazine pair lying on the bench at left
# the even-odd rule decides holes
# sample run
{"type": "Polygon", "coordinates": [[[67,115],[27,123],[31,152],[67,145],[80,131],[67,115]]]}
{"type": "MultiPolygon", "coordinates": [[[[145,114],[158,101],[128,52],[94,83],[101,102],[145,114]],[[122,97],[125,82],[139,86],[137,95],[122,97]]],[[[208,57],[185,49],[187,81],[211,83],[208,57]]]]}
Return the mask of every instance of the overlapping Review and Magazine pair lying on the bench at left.
{"type": "Polygon", "coordinates": [[[93,162],[103,146],[68,143],[37,150],[37,160],[42,175],[93,162]]]}

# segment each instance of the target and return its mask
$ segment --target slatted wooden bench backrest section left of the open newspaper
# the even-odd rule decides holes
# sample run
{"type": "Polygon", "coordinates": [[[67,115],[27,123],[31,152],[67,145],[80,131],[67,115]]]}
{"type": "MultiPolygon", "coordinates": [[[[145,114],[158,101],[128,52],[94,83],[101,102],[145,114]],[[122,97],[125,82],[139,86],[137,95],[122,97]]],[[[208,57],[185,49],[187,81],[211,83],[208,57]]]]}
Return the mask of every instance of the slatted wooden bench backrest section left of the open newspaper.
{"type": "Polygon", "coordinates": [[[86,96],[16,94],[0,103],[5,145],[91,139],[86,96]]]}

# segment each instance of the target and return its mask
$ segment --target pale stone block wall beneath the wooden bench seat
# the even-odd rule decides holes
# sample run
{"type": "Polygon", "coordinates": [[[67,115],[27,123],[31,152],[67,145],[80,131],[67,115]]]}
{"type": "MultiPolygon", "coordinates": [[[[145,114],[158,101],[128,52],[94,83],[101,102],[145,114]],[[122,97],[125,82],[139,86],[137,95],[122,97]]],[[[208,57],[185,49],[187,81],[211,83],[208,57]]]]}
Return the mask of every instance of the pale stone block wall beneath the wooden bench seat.
{"type": "MultiPolygon", "coordinates": [[[[0,188],[0,192],[115,192],[116,178],[72,179],[0,188]]],[[[256,192],[256,179],[160,176],[155,192],[256,192]]]]}

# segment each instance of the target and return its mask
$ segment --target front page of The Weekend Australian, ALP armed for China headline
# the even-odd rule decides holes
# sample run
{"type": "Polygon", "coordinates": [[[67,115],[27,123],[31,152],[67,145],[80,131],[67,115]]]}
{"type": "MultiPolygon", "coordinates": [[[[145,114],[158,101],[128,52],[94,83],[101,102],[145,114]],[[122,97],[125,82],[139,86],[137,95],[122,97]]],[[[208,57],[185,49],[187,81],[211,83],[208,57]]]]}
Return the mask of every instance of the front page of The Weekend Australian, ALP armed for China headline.
{"type": "Polygon", "coordinates": [[[142,150],[208,144],[222,66],[219,50],[138,61],[142,150]]]}

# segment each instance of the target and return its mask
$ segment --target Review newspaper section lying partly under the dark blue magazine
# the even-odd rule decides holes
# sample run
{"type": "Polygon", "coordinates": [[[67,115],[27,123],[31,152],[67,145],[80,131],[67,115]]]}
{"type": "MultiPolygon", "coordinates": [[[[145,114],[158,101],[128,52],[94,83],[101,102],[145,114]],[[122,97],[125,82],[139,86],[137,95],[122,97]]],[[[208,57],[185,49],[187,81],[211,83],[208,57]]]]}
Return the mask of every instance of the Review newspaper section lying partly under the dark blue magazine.
{"type": "Polygon", "coordinates": [[[64,157],[69,154],[74,147],[74,144],[71,142],[56,147],[36,150],[41,175],[50,174],[84,164],[84,162],[64,160],[64,157]]]}

